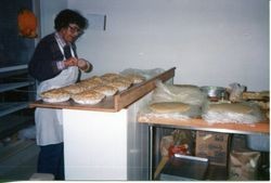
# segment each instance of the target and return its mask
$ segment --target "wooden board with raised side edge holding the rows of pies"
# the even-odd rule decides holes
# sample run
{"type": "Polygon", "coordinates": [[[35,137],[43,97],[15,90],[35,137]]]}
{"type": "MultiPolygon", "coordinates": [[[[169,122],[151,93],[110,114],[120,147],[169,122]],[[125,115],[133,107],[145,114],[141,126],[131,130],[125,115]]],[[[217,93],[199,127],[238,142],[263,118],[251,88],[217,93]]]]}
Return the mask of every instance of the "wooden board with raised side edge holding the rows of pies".
{"type": "Polygon", "coordinates": [[[82,109],[82,110],[98,110],[98,112],[119,112],[151,92],[156,86],[156,80],[167,81],[175,76],[176,67],[172,67],[163,74],[146,80],[139,84],[133,84],[128,90],[118,92],[114,96],[106,97],[95,105],[77,104],[73,100],[62,103],[46,103],[43,101],[36,101],[30,103],[29,107],[43,107],[43,108],[67,108],[67,109],[82,109]]]}

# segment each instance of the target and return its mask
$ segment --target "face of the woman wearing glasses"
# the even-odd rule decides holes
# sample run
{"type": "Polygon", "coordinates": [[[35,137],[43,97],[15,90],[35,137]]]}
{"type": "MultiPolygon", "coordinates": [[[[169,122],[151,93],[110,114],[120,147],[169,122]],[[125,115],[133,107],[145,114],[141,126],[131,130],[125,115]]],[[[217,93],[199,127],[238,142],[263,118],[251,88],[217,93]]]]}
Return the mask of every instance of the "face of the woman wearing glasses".
{"type": "Polygon", "coordinates": [[[82,34],[82,30],[78,25],[69,24],[68,27],[62,28],[60,34],[66,42],[72,43],[82,34]]]}

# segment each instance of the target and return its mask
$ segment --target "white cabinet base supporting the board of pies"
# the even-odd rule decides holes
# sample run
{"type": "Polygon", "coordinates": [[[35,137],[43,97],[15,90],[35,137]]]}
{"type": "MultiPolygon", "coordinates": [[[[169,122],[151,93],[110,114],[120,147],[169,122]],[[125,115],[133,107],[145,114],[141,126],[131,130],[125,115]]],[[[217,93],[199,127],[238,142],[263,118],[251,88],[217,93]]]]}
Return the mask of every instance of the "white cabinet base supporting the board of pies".
{"type": "Polygon", "coordinates": [[[137,113],[150,95],[117,113],[63,109],[66,180],[149,180],[149,129],[137,113]]]}

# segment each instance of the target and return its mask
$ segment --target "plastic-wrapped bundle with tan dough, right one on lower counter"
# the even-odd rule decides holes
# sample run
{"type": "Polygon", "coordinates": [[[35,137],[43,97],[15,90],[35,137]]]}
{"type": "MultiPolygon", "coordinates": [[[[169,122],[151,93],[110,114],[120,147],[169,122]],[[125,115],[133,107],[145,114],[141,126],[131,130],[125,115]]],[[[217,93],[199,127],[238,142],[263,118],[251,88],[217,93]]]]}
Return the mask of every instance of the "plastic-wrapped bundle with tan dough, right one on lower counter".
{"type": "Polygon", "coordinates": [[[260,108],[253,103],[206,103],[203,119],[210,123],[256,123],[264,119],[260,108]]]}

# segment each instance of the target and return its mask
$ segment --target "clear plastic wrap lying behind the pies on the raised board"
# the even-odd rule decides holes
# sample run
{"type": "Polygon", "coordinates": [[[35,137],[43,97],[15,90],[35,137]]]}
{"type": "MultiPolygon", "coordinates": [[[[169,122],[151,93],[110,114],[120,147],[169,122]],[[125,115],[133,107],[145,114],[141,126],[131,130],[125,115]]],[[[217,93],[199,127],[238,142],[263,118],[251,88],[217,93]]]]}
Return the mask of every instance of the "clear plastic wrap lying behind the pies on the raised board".
{"type": "Polygon", "coordinates": [[[143,76],[146,80],[151,79],[159,74],[164,73],[163,68],[154,68],[154,69],[139,69],[139,68],[127,68],[120,71],[120,75],[140,75],[143,76]]]}

